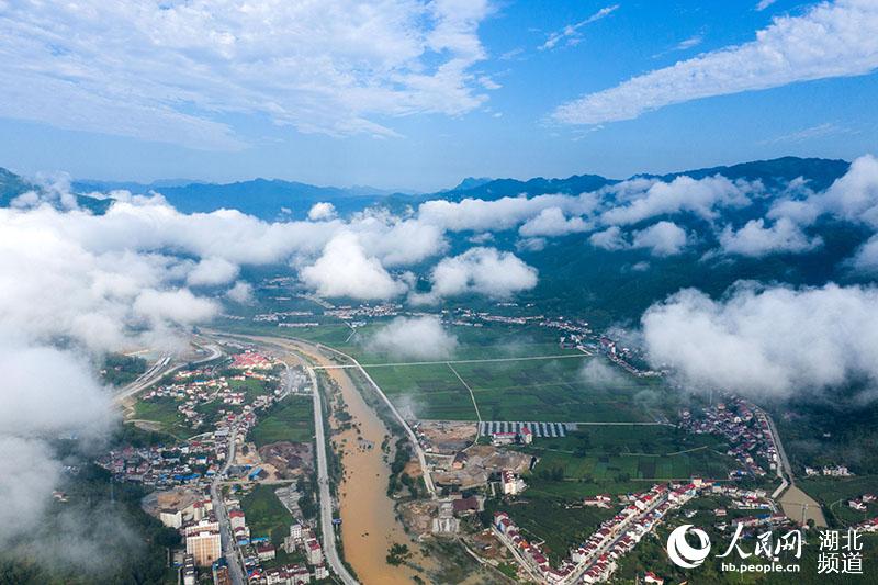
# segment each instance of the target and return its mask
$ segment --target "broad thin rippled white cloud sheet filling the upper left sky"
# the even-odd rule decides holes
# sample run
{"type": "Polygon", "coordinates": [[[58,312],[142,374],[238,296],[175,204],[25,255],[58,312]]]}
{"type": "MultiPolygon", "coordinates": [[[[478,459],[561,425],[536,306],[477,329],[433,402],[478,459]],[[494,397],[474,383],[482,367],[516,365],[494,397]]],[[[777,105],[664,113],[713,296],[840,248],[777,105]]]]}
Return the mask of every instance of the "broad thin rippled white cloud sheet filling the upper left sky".
{"type": "Polygon", "coordinates": [[[393,136],[385,120],[486,101],[487,0],[5,4],[0,115],[240,149],[229,115],[393,136]],[[381,122],[376,122],[381,120],[381,122]]]}

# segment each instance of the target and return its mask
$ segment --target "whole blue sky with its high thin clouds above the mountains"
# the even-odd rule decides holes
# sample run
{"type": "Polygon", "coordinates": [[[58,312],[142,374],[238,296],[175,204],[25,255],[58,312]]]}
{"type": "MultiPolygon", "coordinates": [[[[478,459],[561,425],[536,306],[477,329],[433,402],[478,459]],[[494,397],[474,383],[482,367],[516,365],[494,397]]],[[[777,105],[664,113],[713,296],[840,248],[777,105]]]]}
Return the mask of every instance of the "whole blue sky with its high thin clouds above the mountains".
{"type": "Polygon", "coordinates": [[[878,150],[865,0],[252,4],[0,3],[0,166],[434,190],[878,150]]]}

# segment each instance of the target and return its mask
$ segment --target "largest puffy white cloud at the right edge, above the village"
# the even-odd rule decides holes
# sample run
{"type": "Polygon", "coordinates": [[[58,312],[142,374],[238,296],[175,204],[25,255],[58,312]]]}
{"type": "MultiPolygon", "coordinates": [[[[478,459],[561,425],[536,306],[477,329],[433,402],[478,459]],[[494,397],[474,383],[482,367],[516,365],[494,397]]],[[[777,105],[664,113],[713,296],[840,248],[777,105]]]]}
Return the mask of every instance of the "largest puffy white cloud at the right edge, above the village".
{"type": "Polygon", "coordinates": [[[744,283],[719,301],[688,289],[650,307],[642,326],[651,361],[694,387],[789,397],[878,382],[875,288],[744,283]]]}

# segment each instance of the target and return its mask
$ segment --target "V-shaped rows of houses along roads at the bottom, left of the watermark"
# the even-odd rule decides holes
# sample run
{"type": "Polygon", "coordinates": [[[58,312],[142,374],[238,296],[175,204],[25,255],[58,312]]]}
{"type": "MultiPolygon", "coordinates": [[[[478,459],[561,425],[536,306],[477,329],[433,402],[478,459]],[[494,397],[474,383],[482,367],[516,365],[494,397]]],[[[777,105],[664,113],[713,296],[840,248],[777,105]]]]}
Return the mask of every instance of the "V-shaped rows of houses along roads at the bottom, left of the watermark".
{"type": "MultiPolygon", "coordinates": [[[[672,510],[679,508],[710,482],[693,480],[688,484],[657,484],[649,492],[627,496],[619,514],[604,521],[582,545],[571,551],[558,567],[551,566],[538,543],[529,542],[506,513],[494,515],[492,530],[513,553],[521,567],[538,581],[552,584],[599,583],[609,580],[617,562],[672,510]]],[[[595,505],[609,505],[609,496],[599,496],[595,505]]]]}

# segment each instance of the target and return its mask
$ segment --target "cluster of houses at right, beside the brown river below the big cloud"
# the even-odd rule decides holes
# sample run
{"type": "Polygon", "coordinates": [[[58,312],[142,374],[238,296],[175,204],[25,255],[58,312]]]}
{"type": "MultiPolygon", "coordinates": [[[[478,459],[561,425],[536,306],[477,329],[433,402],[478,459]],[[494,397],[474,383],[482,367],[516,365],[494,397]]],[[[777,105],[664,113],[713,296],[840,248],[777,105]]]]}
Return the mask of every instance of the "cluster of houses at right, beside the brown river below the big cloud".
{"type": "Polygon", "coordinates": [[[756,405],[735,396],[716,406],[703,409],[701,417],[694,417],[686,409],[682,414],[680,427],[689,432],[720,435],[729,441],[727,454],[742,466],[730,473],[763,476],[763,460],[770,471],[777,470],[779,458],[767,415],[756,405]]]}

